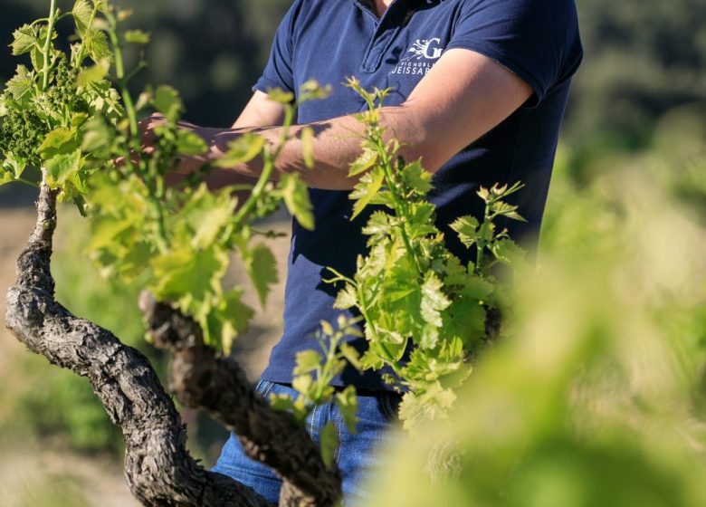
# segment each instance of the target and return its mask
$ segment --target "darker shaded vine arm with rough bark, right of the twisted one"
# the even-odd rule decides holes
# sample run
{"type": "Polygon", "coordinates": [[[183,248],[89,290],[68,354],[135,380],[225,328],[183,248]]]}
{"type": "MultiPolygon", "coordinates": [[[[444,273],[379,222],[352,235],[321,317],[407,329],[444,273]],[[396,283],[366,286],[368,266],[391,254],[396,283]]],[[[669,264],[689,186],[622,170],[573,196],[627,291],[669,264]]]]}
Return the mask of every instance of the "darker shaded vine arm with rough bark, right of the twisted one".
{"type": "Polygon", "coordinates": [[[334,505],[340,474],[291,414],[275,412],[229,357],[206,347],[196,322],[143,292],[139,301],[154,343],[172,351],[169,390],[186,407],[205,409],[239,435],[245,452],[285,478],[281,506],[334,505]]]}

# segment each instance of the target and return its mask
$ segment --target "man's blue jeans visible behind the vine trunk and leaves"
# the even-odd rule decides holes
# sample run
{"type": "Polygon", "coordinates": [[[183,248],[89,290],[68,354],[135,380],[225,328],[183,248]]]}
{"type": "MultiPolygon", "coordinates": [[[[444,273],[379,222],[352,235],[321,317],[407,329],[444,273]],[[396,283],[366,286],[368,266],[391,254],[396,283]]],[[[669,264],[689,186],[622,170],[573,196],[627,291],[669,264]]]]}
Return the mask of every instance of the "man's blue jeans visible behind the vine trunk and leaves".
{"type": "MultiPolygon", "coordinates": [[[[291,386],[261,380],[255,387],[265,398],[271,394],[296,397],[291,386]]],[[[376,477],[376,469],[383,466],[383,458],[376,451],[390,437],[386,431],[395,421],[400,395],[389,392],[367,392],[358,395],[358,432],[351,434],[343,423],[339,409],[333,404],[317,405],[307,419],[307,431],[314,442],[319,442],[320,431],[333,421],[339,432],[339,449],[334,459],[343,478],[343,505],[350,507],[368,499],[363,485],[376,477]]],[[[225,443],[214,472],[233,477],[253,488],[268,502],[279,502],[281,479],[264,464],[247,457],[237,436],[231,435],[225,443]]]]}

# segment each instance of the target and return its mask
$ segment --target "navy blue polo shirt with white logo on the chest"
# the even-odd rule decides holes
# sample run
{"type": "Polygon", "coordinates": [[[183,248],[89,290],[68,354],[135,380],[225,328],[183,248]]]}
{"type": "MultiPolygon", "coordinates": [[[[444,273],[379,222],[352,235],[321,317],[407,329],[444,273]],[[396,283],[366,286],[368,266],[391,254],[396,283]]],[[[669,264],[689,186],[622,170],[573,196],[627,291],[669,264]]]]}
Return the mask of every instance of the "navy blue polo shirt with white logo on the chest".
{"type": "MultiPolygon", "coordinates": [[[[364,110],[358,95],[342,86],[356,76],[368,90],[392,88],[386,105],[405,101],[444,51],[464,48],[501,63],[534,91],[528,102],[495,129],[449,160],[434,175],[430,195],[437,225],[449,249],[464,262],[471,251],[448,227],[462,215],[482,216],[480,186],[521,180],[514,204],[527,223],[507,224],[527,243],[539,234],[567,103],[571,75],[581,61],[573,0],[395,0],[378,18],[363,0],[296,0],[284,17],[270,60],[254,90],[279,87],[296,93],[304,81],[331,84],[327,100],[302,104],[299,123],[329,120],[364,110]]],[[[335,322],[333,302],[339,287],[327,266],[352,276],[358,254],[366,253],[361,228],[368,214],[350,220],[348,192],[310,189],[314,231],[292,225],[284,302],[284,332],[272,349],[262,378],[291,382],[298,351],[317,347],[313,333],[320,320],[335,322]]],[[[358,349],[362,339],[352,340],[358,349]]],[[[348,368],[335,384],[384,389],[373,372],[348,368]]]]}

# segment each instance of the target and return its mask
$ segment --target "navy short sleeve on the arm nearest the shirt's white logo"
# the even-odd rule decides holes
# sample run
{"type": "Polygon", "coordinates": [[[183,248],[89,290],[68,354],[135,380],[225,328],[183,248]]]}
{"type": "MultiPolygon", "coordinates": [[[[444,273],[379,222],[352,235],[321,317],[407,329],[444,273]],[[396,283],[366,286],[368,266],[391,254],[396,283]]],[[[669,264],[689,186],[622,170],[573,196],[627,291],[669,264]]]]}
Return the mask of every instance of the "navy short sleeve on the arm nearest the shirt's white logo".
{"type": "Polygon", "coordinates": [[[482,53],[527,82],[537,105],[576,72],[583,51],[573,0],[469,0],[446,49],[482,53]]]}

